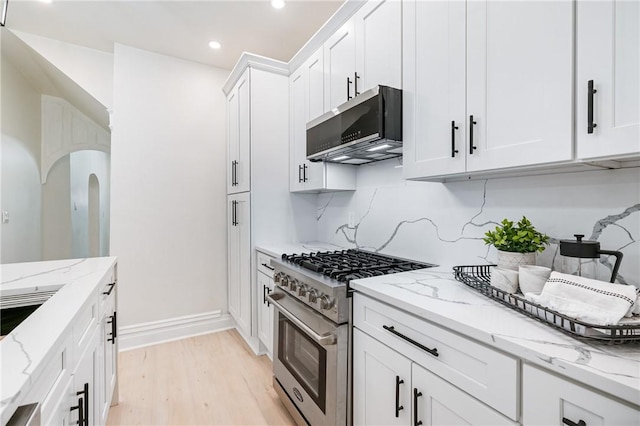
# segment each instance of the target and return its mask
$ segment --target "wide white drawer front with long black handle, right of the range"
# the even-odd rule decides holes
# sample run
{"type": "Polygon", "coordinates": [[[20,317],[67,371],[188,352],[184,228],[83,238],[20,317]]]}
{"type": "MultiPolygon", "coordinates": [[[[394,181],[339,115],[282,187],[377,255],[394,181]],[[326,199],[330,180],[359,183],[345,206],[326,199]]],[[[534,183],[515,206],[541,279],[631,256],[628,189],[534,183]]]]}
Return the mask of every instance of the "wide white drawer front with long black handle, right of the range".
{"type": "Polygon", "coordinates": [[[356,294],[353,303],[355,327],[518,420],[517,359],[366,296],[356,294]]]}

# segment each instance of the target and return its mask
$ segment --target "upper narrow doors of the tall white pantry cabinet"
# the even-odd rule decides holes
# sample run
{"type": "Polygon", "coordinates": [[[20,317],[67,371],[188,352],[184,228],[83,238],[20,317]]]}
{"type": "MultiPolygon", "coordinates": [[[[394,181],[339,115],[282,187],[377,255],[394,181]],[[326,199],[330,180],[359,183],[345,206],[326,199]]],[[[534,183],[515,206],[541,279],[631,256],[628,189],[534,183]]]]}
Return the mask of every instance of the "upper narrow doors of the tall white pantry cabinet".
{"type": "Polygon", "coordinates": [[[249,72],[247,68],[227,96],[227,194],[250,189],[249,72]]]}

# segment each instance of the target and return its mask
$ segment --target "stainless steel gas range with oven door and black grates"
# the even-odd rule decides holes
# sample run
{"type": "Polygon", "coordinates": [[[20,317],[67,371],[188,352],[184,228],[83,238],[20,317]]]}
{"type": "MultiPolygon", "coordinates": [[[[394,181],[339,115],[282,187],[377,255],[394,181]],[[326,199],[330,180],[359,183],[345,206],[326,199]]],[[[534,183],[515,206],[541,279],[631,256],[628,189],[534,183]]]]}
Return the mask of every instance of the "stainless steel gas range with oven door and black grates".
{"type": "Polygon", "coordinates": [[[349,281],[432,264],[363,250],[272,260],[274,388],[298,424],[348,423],[349,281]]]}

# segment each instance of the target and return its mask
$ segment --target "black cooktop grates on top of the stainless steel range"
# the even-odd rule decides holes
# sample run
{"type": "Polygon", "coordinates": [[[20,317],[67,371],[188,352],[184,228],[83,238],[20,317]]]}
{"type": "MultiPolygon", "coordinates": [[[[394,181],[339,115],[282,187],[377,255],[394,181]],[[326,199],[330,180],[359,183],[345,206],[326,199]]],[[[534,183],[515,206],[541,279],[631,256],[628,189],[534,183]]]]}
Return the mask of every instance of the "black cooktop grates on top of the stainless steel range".
{"type": "Polygon", "coordinates": [[[341,282],[431,268],[433,264],[349,249],[309,254],[283,254],[282,260],[341,282]]]}

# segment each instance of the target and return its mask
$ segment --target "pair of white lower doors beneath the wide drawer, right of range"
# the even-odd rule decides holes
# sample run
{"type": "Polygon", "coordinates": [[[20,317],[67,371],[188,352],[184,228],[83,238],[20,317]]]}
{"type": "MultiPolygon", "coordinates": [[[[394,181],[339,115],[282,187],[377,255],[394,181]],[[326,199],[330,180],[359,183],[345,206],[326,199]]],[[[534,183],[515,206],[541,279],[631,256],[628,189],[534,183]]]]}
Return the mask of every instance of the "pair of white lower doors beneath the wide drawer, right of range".
{"type": "Polygon", "coordinates": [[[516,424],[358,329],[353,342],[354,424],[516,424]]]}

